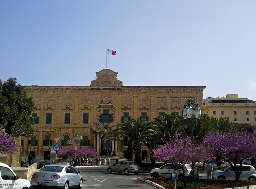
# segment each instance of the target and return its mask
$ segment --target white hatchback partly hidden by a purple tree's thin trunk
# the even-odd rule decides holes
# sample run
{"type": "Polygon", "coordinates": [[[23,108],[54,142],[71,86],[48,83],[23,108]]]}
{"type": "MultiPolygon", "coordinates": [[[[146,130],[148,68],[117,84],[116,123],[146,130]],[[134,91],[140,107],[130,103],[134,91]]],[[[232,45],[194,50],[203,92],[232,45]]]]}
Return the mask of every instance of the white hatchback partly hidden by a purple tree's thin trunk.
{"type": "MultiPolygon", "coordinates": [[[[183,169],[185,170],[185,177],[189,177],[192,167],[189,164],[185,164],[183,169]]],[[[174,170],[177,172],[177,177],[181,178],[183,175],[182,165],[178,163],[167,163],[161,166],[160,168],[152,169],[150,171],[150,176],[151,177],[171,177],[171,174],[174,170]]]]}

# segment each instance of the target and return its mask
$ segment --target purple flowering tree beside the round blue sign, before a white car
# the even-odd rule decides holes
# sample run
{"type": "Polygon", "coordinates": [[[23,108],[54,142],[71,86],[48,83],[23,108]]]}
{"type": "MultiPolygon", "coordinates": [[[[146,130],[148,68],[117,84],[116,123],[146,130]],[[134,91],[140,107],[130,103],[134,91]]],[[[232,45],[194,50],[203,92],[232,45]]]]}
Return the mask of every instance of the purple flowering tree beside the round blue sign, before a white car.
{"type": "MultiPolygon", "coordinates": [[[[182,136],[181,133],[176,132],[170,140],[165,142],[156,150],[153,150],[156,160],[161,162],[175,162],[176,167],[182,167],[182,174],[185,175],[184,166],[186,163],[199,162],[207,159],[209,156],[205,153],[204,149],[192,143],[191,138],[182,136]]],[[[186,188],[185,177],[181,177],[186,188]]]]}

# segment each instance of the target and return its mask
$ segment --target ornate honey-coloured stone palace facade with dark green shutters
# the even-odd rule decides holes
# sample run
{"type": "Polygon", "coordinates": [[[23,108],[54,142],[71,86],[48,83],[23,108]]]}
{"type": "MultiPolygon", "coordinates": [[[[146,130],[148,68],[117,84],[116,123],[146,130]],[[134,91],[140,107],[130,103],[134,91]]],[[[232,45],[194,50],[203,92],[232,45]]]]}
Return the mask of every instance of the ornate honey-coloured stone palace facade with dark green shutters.
{"type": "MultiPolygon", "coordinates": [[[[92,146],[98,155],[124,156],[126,144],[108,142],[110,132],[129,117],[152,120],[161,112],[182,108],[189,98],[202,109],[205,86],[123,86],[117,72],[103,69],[90,86],[26,86],[27,95],[35,102],[31,119],[36,132],[31,138],[22,138],[21,156],[32,153],[35,158],[52,159],[53,137],[61,137],[59,145],[66,146],[77,132],[82,141],[78,146],[92,146]]],[[[76,145],[76,144],[73,144],[76,145]]],[[[149,157],[142,147],[142,155],[149,157]]]]}

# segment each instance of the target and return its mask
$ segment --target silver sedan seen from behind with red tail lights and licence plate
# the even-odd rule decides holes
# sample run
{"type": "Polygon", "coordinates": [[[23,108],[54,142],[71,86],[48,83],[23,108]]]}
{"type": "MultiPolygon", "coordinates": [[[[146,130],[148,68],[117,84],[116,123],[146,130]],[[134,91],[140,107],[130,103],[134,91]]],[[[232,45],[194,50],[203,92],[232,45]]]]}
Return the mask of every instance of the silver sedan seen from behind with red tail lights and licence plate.
{"type": "Polygon", "coordinates": [[[54,186],[63,189],[72,187],[82,188],[83,178],[77,171],[70,165],[45,165],[32,175],[31,183],[33,188],[37,186],[54,186]]]}

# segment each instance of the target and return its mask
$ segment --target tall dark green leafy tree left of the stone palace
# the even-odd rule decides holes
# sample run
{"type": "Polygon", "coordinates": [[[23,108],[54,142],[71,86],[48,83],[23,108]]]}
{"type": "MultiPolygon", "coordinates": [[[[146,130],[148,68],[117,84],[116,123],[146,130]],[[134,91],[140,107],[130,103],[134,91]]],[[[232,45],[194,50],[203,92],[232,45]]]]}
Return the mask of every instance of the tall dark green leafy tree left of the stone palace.
{"type": "Polygon", "coordinates": [[[34,102],[28,98],[25,90],[10,77],[4,83],[0,80],[0,127],[12,136],[33,134],[33,122],[30,120],[34,102]]]}

